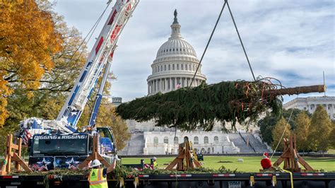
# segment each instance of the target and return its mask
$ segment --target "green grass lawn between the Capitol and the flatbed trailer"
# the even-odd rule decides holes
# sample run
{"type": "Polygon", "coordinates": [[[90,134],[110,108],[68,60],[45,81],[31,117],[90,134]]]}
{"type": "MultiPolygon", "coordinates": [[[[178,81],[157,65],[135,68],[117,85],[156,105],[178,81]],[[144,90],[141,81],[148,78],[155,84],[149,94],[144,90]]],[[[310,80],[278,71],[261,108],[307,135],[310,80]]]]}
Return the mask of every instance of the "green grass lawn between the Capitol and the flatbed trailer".
{"type": "MultiPolygon", "coordinates": [[[[261,156],[259,157],[237,157],[237,156],[204,156],[203,167],[218,169],[222,165],[225,168],[230,170],[235,170],[242,172],[259,172],[261,168],[260,161],[261,156]],[[242,158],[243,162],[237,162],[238,158],[242,158]],[[218,163],[219,161],[224,163],[218,163]]],[[[140,163],[141,158],[122,158],[122,164],[136,164],[140,163]]],[[[150,158],[143,158],[144,163],[150,163],[150,158]]],[[[174,158],[158,158],[158,168],[165,168],[168,163],[171,163],[174,158]]],[[[271,159],[274,163],[278,158],[274,157],[271,159]]],[[[308,164],[312,166],[315,170],[326,170],[326,171],[335,171],[335,158],[304,158],[308,164]]]]}

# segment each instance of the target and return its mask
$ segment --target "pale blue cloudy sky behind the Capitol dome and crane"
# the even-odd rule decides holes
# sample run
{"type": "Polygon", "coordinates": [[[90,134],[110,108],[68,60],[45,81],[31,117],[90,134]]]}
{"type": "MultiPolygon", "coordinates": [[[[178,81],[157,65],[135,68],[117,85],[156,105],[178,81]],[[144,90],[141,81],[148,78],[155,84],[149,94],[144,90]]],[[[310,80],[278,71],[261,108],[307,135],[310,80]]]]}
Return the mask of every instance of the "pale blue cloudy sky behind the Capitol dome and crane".
{"type": "MultiPolygon", "coordinates": [[[[105,9],[107,0],[58,0],[54,11],[85,37],[105,9]]],[[[112,1],[112,5],[114,5],[112,1]]],[[[146,78],[156,53],[170,37],[173,12],[178,11],[181,32],[200,59],[223,0],[141,0],[124,28],[114,52],[111,94],[123,102],[147,94],[146,78]]],[[[229,1],[255,76],[273,77],[285,87],[323,84],[335,95],[335,1],[229,1]]],[[[111,7],[102,18],[98,37],[111,7]]],[[[88,42],[88,50],[94,45],[88,42]]],[[[202,61],[207,83],[252,81],[228,8],[225,7],[202,61]]],[[[299,95],[322,96],[324,93],[299,95]]],[[[297,95],[284,95],[284,102],[297,95]]]]}

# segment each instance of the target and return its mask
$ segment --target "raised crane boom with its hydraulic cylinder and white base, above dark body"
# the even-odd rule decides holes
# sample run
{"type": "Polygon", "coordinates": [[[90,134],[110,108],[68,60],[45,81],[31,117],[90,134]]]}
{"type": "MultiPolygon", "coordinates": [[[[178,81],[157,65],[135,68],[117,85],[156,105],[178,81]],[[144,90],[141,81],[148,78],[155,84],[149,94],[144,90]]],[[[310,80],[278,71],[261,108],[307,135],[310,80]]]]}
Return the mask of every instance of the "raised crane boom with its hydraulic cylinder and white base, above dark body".
{"type": "MultiPolygon", "coordinates": [[[[110,3],[111,0],[107,4],[110,3]]],[[[23,137],[23,143],[27,143],[28,139],[34,134],[51,134],[54,132],[72,134],[76,132],[78,119],[81,117],[83,109],[103,71],[102,82],[87,127],[95,125],[102,100],[102,91],[107,81],[107,74],[110,71],[114,50],[117,47],[117,40],[138,3],[139,0],[117,0],[115,2],[93,49],[86,59],[86,64],[74,84],[74,88],[72,88],[63,107],[61,107],[57,119],[31,117],[21,121],[20,135],[23,137]]]]}

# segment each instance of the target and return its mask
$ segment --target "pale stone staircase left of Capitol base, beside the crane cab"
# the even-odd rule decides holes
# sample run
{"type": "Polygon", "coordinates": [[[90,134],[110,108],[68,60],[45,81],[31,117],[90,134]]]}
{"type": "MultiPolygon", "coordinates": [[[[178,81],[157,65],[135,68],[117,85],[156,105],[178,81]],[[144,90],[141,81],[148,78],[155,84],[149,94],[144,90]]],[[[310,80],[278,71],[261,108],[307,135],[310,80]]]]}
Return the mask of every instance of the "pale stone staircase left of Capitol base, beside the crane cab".
{"type": "Polygon", "coordinates": [[[118,155],[143,155],[144,135],[143,133],[131,134],[131,139],[126,147],[119,151],[118,155]]]}

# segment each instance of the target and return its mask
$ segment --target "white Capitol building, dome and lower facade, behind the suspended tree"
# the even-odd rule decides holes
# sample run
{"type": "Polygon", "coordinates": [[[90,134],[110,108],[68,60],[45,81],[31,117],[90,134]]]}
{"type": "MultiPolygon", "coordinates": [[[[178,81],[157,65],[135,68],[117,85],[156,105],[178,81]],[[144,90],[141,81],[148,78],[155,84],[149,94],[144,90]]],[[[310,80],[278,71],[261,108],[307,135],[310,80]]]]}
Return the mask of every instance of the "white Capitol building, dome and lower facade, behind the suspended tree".
{"type": "MultiPolygon", "coordinates": [[[[181,35],[177,11],[175,11],[175,18],[170,27],[171,36],[158,49],[156,58],[151,64],[152,74],[147,78],[148,95],[158,92],[167,93],[189,86],[199,65],[196,51],[181,35]]],[[[201,82],[206,82],[206,76],[201,74],[201,66],[199,66],[192,87],[199,86],[201,82]]],[[[120,155],[176,154],[178,143],[182,143],[186,138],[192,141],[195,150],[201,153],[239,153],[243,151],[240,151],[241,147],[237,146],[237,142],[245,145],[242,143],[240,134],[224,134],[219,123],[216,124],[213,131],[209,132],[182,132],[155,127],[153,121],[139,123],[127,120],[127,125],[132,133],[131,140],[120,155]]],[[[228,124],[227,127],[230,125],[228,124]]],[[[266,151],[266,147],[264,150],[266,151]]]]}

